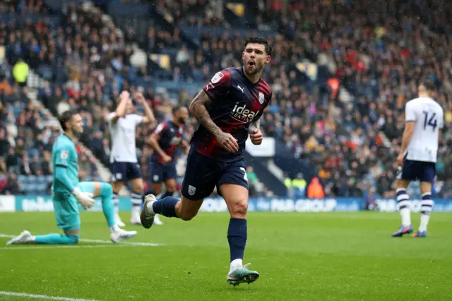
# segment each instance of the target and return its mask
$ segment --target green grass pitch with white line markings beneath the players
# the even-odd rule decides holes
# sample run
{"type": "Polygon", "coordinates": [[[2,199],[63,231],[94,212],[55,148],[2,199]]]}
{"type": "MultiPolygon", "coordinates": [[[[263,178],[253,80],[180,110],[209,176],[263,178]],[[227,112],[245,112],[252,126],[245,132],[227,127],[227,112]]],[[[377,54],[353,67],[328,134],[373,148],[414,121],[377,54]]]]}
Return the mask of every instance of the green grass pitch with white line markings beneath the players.
{"type": "MultiPolygon", "coordinates": [[[[81,218],[81,238],[109,240],[102,213],[81,218]]],[[[416,229],[419,214],[412,218],[416,229]]],[[[89,300],[452,300],[451,213],[432,214],[426,239],[391,238],[398,213],[250,213],[244,263],[261,278],[236,288],[226,283],[227,213],[162,220],[150,230],[126,227],[138,230],[129,242],[157,247],[6,247],[0,237],[0,291],[89,300]]],[[[58,231],[53,213],[0,214],[0,234],[24,229],[58,231]]]]}

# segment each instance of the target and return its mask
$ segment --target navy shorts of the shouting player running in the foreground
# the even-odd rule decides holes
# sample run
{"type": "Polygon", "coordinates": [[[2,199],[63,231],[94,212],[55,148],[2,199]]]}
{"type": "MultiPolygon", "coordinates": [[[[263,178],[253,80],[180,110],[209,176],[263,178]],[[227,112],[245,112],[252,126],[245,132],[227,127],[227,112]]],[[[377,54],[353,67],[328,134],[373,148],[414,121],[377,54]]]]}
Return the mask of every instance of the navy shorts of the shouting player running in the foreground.
{"type": "Polygon", "coordinates": [[[226,183],[249,189],[245,161],[223,162],[201,155],[191,148],[182,182],[182,195],[198,201],[210,196],[215,186],[220,194],[220,186],[226,183]]]}

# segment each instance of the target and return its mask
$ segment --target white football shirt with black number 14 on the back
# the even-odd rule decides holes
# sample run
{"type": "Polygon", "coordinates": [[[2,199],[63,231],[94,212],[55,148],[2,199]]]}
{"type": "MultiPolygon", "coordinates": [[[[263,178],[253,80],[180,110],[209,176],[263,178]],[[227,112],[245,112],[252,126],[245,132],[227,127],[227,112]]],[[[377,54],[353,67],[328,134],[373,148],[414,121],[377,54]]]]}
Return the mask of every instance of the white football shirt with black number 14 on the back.
{"type": "Polygon", "coordinates": [[[406,158],[436,163],[439,129],[444,125],[443,108],[432,98],[415,98],[405,105],[405,121],[416,123],[406,158]]]}

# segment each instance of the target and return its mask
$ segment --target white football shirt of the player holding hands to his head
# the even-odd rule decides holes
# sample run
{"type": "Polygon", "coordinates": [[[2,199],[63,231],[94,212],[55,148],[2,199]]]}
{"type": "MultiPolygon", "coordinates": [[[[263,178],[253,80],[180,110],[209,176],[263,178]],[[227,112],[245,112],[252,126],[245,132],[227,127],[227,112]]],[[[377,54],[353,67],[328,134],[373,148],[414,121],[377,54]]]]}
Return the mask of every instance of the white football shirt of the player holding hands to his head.
{"type": "Polygon", "coordinates": [[[143,122],[143,116],[127,114],[125,117],[119,117],[113,124],[112,119],[115,115],[115,112],[108,115],[108,127],[112,138],[110,163],[114,161],[137,163],[135,129],[138,124],[143,122]]]}

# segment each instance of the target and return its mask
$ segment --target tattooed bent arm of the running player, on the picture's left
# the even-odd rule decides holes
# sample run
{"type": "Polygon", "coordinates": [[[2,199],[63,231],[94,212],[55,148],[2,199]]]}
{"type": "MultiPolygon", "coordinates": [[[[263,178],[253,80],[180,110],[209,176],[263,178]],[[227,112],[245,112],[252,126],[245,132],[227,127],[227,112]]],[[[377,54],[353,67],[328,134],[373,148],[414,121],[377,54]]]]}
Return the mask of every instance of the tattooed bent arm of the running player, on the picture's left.
{"type": "Polygon", "coordinates": [[[239,151],[239,145],[237,144],[237,140],[229,133],[225,133],[222,131],[216,124],[213,122],[212,118],[210,118],[209,113],[207,112],[206,105],[210,104],[210,98],[201,90],[201,92],[196,95],[196,98],[190,104],[190,113],[194,116],[198,122],[210,133],[215,136],[218,143],[222,148],[225,148],[226,151],[230,153],[235,153],[239,151]]]}

